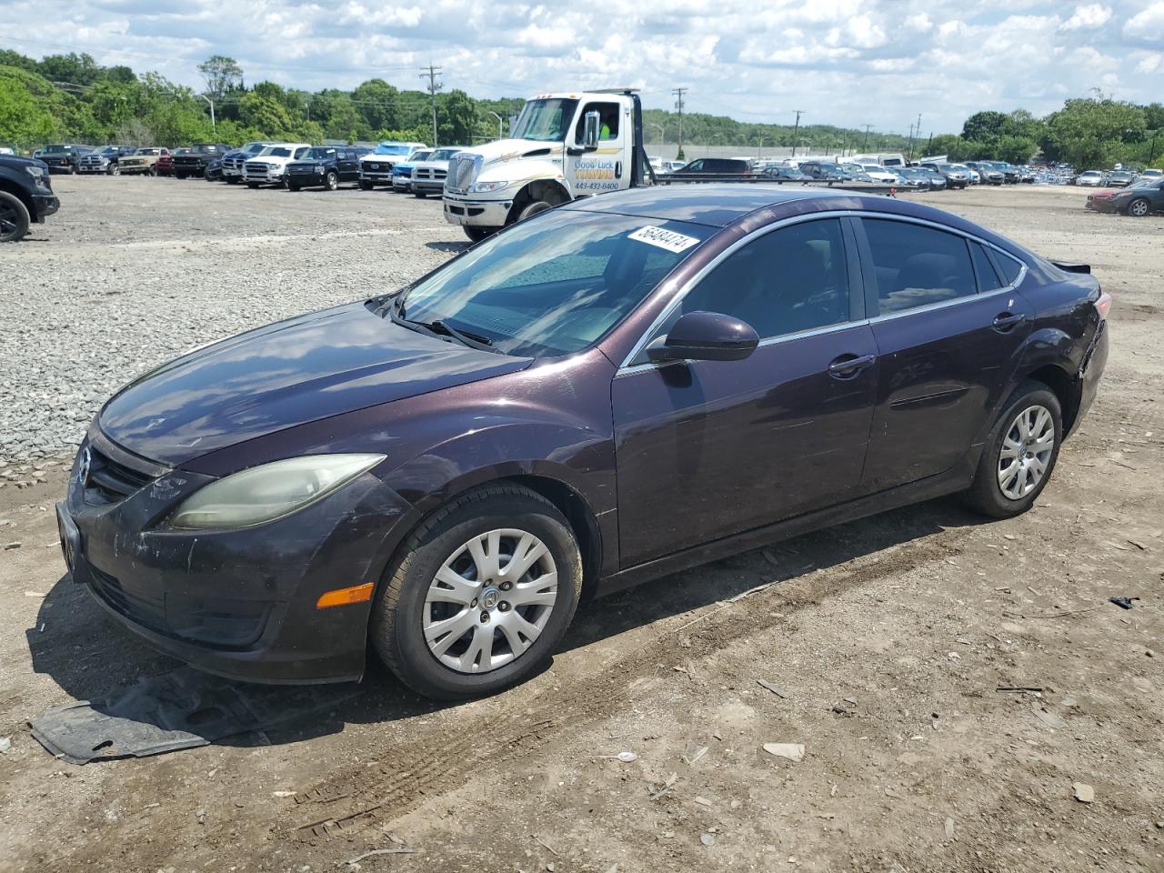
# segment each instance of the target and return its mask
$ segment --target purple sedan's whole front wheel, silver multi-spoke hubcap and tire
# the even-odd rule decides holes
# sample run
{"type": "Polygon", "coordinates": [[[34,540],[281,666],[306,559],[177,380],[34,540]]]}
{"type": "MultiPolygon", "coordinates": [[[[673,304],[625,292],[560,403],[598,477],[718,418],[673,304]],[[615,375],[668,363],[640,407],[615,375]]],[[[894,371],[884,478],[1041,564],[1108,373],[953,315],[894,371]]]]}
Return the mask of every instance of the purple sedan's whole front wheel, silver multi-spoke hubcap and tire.
{"type": "Polygon", "coordinates": [[[371,641],[419,694],[492,694],[549,660],[581,590],[581,553],[561,512],[518,485],[489,485],[407,539],[377,590],[371,641]]]}

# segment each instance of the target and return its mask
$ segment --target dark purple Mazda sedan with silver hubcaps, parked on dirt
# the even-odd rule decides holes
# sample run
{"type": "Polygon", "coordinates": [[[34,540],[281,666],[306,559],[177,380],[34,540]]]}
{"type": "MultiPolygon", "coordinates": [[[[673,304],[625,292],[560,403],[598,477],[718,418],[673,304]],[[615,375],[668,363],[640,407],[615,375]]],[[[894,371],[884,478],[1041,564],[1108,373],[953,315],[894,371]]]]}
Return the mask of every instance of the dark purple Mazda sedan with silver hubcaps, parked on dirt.
{"type": "Polygon", "coordinates": [[[838,190],[579,200],[122,389],[65,556],[206,670],[356,680],[370,638],[496,691],[583,597],[939,495],[1027,510],[1107,360],[1088,274],[838,190]]]}

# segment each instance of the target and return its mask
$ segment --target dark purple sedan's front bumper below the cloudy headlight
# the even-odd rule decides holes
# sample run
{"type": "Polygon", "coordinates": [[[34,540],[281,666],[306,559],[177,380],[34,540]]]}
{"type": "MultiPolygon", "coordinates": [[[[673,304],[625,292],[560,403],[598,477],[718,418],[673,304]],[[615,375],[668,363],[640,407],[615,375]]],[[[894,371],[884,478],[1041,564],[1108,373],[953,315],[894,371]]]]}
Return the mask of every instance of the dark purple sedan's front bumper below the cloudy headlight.
{"type": "MultiPolygon", "coordinates": [[[[85,449],[102,459],[94,464],[140,462],[99,432],[85,449]]],[[[79,467],[78,460],[58,505],[62,547],[73,581],[122,626],[154,648],[230,679],[312,683],[362,676],[371,602],[324,610],[315,602],[327,590],[379,582],[386,535],[411,506],[378,478],[364,474],[264,525],[176,531],[159,520],[211,477],[173,470],[101,504],[79,482],[79,467]]]]}

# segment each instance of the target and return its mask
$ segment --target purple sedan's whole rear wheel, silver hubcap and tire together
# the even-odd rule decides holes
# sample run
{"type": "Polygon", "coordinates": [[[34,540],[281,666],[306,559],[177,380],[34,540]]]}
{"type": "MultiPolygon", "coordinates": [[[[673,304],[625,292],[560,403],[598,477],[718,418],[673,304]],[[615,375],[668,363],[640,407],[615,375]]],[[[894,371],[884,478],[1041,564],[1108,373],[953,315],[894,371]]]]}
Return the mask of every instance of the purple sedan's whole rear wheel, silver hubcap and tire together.
{"type": "Polygon", "coordinates": [[[986,440],[965,502],[994,518],[1025,512],[1046,487],[1062,442],[1059,398],[1041,382],[1022,383],[986,440]]]}

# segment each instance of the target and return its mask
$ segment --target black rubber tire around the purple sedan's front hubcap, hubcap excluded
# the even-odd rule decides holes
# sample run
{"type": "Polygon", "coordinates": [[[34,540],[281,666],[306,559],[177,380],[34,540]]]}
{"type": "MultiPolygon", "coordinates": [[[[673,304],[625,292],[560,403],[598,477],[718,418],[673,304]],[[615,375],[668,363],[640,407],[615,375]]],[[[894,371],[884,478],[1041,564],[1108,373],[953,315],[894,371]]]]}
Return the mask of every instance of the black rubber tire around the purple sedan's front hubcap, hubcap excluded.
{"type": "MultiPolygon", "coordinates": [[[[418,694],[438,700],[480,697],[528,679],[549,661],[574,617],[581,590],[582,556],[561,512],[519,485],[487,485],[453,499],[404,542],[377,587],[369,636],[388,668],[418,694]],[[487,673],[461,673],[439,661],[425,641],[425,599],[445,561],[463,544],[498,527],[527,531],[547,546],[558,573],[556,601],[541,633],[524,653],[487,673]]],[[[476,603],[466,611],[483,609],[476,603]]],[[[466,631],[471,638],[475,633],[475,626],[466,631]]]]}

